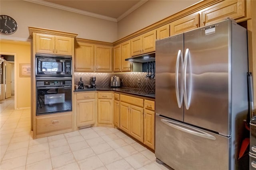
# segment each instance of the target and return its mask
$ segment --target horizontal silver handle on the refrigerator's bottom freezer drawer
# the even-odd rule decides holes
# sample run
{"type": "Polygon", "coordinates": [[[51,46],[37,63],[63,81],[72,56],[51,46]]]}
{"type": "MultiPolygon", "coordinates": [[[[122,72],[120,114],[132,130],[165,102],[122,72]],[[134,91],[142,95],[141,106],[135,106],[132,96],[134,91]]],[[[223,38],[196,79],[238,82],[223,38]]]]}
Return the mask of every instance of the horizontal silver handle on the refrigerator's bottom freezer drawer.
{"type": "Polygon", "coordinates": [[[166,124],[170,127],[173,127],[175,129],[178,129],[178,130],[186,132],[186,133],[190,133],[191,135],[196,135],[196,136],[199,136],[199,137],[203,137],[203,138],[207,138],[207,139],[211,139],[211,140],[216,140],[216,137],[214,137],[214,136],[212,136],[208,133],[205,133],[204,131],[201,131],[199,129],[184,125],[182,123],[178,123],[178,122],[175,122],[175,121],[172,121],[172,120],[165,120],[165,119],[161,119],[161,121],[164,124],[166,124]]]}

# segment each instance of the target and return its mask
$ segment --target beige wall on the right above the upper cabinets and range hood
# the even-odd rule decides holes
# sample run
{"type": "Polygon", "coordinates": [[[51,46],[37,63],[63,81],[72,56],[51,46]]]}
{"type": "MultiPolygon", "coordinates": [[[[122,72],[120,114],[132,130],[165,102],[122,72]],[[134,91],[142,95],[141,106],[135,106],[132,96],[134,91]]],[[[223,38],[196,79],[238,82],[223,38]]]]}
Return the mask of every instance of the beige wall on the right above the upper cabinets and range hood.
{"type": "Polygon", "coordinates": [[[149,0],[118,22],[118,39],[167,18],[200,0],[149,0]]]}

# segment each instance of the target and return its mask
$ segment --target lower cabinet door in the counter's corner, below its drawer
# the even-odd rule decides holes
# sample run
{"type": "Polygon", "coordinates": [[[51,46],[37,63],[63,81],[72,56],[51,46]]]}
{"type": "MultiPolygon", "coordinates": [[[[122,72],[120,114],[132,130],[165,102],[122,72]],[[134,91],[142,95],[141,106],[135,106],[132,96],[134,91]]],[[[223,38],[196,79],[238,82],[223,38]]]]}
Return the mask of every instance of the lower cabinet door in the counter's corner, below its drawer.
{"type": "Polygon", "coordinates": [[[98,123],[112,124],[111,99],[98,99],[98,123]]]}

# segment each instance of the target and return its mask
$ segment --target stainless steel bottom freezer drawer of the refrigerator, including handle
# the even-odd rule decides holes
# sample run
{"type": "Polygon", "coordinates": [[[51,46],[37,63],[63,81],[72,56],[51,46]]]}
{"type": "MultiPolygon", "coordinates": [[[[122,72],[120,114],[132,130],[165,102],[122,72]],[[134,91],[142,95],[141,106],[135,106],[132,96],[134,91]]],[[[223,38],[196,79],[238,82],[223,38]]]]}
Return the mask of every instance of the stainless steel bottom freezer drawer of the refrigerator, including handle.
{"type": "Polygon", "coordinates": [[[156,158],[175,170],[228,170],[230,138],[156,115],[156,158]]]}

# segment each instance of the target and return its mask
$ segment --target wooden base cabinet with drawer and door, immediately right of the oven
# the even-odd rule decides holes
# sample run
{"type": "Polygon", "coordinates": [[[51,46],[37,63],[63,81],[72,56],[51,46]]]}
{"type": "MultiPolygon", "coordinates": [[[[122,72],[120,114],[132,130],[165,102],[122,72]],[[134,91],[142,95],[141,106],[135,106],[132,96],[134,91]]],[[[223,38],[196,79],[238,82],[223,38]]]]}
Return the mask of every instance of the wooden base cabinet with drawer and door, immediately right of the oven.
{"type": "Polygon", "coordinates": [[[96,93],[78,93],[76,94],[77,104],[77,126],[86,126],[95,124],[96,117],[96,93]]]}

